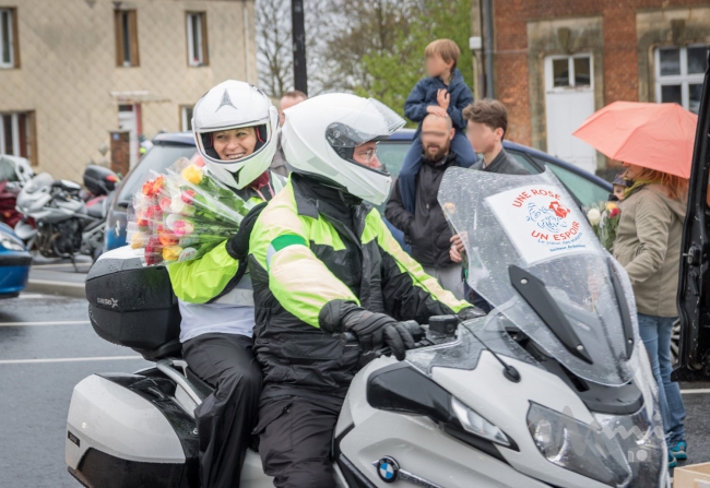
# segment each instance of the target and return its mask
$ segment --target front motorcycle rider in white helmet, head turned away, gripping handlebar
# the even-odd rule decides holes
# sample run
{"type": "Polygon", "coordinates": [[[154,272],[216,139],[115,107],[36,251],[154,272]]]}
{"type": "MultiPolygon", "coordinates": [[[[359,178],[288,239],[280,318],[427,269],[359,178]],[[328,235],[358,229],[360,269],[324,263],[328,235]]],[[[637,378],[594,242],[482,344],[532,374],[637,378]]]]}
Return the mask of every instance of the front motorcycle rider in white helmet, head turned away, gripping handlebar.
{"type": "Polygon", "coordinates": [[[276,487],[334,486],[331,438],[360,349],[389,346],[401,360],[414,346],[401,321],[480,314],[426,275],[364,202],[387,199],[391,177],[377,141],[403,124],[378,100],[348,94],[286,111],[282,145],[293,172],[249,242],[255,352],[264,371],[256,432],[276,487]]]}

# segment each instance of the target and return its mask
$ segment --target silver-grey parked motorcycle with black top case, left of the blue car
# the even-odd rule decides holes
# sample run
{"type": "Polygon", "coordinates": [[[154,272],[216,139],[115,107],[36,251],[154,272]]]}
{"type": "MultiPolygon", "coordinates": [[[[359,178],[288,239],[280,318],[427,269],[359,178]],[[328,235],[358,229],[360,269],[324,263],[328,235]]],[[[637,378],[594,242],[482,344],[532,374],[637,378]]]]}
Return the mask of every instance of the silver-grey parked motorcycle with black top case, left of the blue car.
{"type": "Polygon", "coordinates": [[[98,258],[104,248],[107,197],[119,180],[110,169],[95,165],[86,166],[83,180],[87,194],[80,185],[54,180],[47,172],[25,185],[16,205],[24,218],[16,224],[15,233],[28,249],[37,249],[45,258],[69,258],[72,262],[76,254],[98,258]]]}

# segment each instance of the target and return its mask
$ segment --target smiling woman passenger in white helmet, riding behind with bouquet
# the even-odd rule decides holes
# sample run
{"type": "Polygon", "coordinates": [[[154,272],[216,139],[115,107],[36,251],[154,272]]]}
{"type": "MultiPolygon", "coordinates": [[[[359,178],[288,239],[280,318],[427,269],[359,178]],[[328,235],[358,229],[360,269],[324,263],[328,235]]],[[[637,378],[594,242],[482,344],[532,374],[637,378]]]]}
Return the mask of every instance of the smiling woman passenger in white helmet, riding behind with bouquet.
{"type": "MultiPolygon", "coordinates": [[[[285,183],[269,171],[277,128],[269,97],[245,82],[221,83],[194,106],[192,130],[208,171],[245,201],[271,200],[285,183]]],[[[202,488],[239,486],[257,420],[261,369],[251,350],[253,298],[245,275],[249,219],[201,259],[168,266],[184,358],[214,388],[194,410],[202,488]]]]}

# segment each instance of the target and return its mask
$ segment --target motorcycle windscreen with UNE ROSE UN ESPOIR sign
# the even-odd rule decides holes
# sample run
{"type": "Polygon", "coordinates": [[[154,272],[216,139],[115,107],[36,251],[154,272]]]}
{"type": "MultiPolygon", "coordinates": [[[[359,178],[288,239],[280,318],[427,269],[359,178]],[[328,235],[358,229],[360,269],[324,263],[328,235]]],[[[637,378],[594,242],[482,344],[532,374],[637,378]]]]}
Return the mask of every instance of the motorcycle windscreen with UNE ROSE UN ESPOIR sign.
{"type": "Polygon", "coordinates": [[[638,325],[628,276],[549,169],[513,176],[450,168],[438,199],[462,237],[466,281],[497,309],[492,314],[502,313],[581,378],[608,385],[631,379],[638,325]]]}

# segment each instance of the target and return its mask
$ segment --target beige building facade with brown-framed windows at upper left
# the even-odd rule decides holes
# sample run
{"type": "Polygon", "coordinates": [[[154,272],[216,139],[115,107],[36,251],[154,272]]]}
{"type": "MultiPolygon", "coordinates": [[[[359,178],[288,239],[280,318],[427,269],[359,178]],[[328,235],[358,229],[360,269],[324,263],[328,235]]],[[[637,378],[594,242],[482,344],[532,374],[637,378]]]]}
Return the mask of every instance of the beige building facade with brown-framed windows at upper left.
{"type": "Polygon", "coordinates": [[[126,132],[134,164],[227,79],[257,82],[253,0],[0,0],[0,152],[35,171],[79,180],[126,132]]]}

